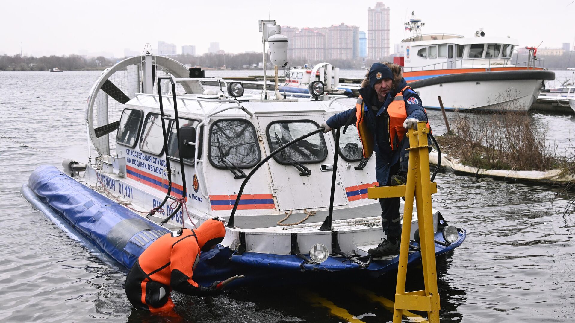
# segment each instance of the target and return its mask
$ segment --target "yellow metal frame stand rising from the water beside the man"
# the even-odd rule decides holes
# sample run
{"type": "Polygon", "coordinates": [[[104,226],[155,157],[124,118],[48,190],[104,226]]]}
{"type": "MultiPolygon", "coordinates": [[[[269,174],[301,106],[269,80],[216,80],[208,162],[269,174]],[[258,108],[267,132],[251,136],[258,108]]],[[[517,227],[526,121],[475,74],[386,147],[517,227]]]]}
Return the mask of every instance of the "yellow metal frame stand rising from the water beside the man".
{"type": "Polygon", "coordinates": [[[435,267],[434,220],[431,194],[437,193],[437,184],[430,180],[427,122],[417,123],[417,130],[409,129],[409,166],[407,183],[402,186],[383,186],[367,189],[368,198],[405,197],[401,245],[397,268],[397,285],[393,308],[393,323],[400,323],[404,310],[427,312],[430,323],[439,323],[439,293],[435,267]],[[413,216],[413,199],[417,207],[417,225],[423,264],[425,289],[405,291],[409,236],[413,216]]]}

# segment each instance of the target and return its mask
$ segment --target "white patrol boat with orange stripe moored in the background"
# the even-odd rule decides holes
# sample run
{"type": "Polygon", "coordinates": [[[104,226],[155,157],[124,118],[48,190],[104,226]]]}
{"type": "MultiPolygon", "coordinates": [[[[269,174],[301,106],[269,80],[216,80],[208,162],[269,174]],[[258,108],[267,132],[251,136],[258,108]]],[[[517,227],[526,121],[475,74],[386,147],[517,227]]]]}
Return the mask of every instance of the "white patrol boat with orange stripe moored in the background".
{"type": "Polygon", "coordinates": [[[424,23],[411,14],[405,29],[412,33],[400,44],[403,76],[428,109],[527,111],[555,73],[530,49],[527,61],[517,56],[517,40],[457,34],[422,34],[424,23]]]}

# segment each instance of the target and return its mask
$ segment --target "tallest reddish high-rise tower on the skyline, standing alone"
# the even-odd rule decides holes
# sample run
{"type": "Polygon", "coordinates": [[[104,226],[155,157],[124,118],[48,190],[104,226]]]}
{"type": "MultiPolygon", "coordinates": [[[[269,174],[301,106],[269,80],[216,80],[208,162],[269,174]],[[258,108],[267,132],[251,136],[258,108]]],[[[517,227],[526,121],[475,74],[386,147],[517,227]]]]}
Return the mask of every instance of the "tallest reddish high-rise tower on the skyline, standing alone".
{"type": "Polygon", "coordinates": [[[373,9],[368,8],[367,24],[367,56],[371,59],[389,56],[389,7],[378,2],[373,9]]]}

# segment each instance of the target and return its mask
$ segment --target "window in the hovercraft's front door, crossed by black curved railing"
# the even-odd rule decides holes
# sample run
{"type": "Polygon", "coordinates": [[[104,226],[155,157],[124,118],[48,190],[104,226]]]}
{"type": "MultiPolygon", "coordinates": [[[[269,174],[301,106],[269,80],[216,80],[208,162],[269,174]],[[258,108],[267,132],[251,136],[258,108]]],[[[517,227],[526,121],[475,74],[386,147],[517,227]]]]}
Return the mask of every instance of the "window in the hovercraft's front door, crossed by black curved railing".
{"type": "MultiPolygon", "coordinates": [[[[319,128],[313,121],[277,121],[267,126],[267,143],[274,151],[283,144],[319,128]]],[[[327,146],[323,134],[317,133],[283,149],[274,156],[282,165],[319,163],[327,157],[327,146]]]]}

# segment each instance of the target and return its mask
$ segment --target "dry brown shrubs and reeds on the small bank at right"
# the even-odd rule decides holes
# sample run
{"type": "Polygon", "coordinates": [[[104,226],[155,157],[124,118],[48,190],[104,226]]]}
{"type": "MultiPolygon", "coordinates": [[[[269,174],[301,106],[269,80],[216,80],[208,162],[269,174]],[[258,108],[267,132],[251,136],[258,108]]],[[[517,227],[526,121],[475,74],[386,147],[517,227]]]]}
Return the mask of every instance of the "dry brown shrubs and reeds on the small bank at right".
{"type": "Polygon", "coordinates": [[[551,170],[559,160],[545,144],[546,129],[532,126],[526,112],[473,116],[458,113],[451,121],[453,136],[440,140],[442,148],[463,164],[503,170],[551,170]]]}

